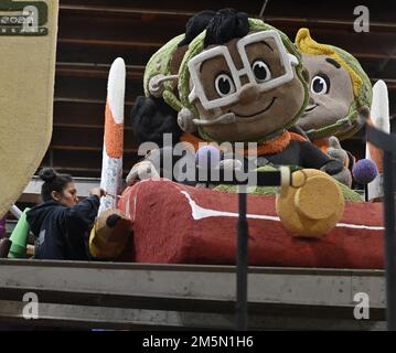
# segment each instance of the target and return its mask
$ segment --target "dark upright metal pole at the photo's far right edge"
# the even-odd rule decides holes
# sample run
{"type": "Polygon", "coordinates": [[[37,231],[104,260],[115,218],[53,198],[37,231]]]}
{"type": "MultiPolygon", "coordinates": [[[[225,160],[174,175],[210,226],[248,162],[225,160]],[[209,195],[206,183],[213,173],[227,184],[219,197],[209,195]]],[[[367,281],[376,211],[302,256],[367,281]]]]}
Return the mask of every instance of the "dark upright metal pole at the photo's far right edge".
{"type": "Polygon", "coordinates": [[[389,331],[396,331],[396,232],[394,156],[384,151],[384,215],[386,319],[389,331]]]}

